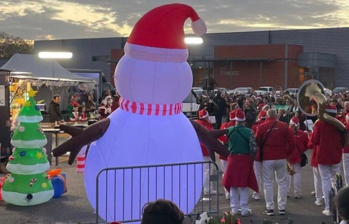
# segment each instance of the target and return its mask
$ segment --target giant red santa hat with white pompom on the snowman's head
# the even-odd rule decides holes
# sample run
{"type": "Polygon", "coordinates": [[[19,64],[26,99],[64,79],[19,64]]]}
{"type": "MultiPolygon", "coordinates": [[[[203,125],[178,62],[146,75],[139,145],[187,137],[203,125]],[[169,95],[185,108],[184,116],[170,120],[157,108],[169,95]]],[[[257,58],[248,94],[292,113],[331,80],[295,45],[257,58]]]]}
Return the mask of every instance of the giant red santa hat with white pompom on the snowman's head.
{"type": "Polygon", "coordinates": [[[205,22],[189,5],[174,3],[153,8],[134,26],[124,47],[125,55],[150,61],[186,61],[183,26],[187,18],[196,35],[206,33],[205,22]]]}

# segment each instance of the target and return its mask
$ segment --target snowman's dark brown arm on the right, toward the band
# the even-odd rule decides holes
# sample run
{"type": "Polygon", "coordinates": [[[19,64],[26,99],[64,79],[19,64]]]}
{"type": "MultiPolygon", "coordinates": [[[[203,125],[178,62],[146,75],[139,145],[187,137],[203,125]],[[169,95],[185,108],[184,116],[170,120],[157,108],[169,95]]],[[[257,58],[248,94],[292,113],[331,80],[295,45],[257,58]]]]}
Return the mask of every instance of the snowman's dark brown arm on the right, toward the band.
{"type": "Polygon", "coordinates": [[[218,153],[221,156],[225,156],[225,157],[229,156],[228,149],[216,139],[215,134],[213,134],[214,132],[211,133],[209,130],[207,130],[204,126],[202,126],[198,122],[195,122],[193,120],[190,120],[190,122],[196,131],[199,141],[206,146],[212,161],[215,161],[214,152],[218,153]]]}

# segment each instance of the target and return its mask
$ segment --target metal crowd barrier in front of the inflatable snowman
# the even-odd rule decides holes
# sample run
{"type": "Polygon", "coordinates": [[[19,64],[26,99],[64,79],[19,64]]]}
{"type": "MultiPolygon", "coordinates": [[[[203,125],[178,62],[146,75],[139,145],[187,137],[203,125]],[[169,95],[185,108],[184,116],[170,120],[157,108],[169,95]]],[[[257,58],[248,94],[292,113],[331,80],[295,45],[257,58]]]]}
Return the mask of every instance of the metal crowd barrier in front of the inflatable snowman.
{"type": "MultiPolygon", "coordinates": [[[[189,217],[190,219],[192,217],[195,217],[195,220],[199,217],[200,214],[207,212],[209,214],[217,214],[219,212],[219,183],[218,183],[218,166],[216,163],[211,162],[211,161],[202,161],[202,162],[190,162],[190,163],[173,163],[173,164],[161,164],[161,165],[145,165],[145,166],[128,166],[128,167],[115,167],[115,168],[105,168],[101,170],[96,178],[96,224],[99,223],[105,223],[103,219],[100,218],[100,216],[105,217],[111,217],[110,216],[110,211],[113,211],[112,217],[114,217],[113,221],[118,221],[121,223],[131,223],[131,222],[139,222],[142,219],[142,213],[144,209],[144,205],[148,202],[155,201],[154,198],[150,199],[149,197],[149,189],[150,189],[150,172],[155,171],[155,176],[153,175],[151,179],[156,180],[156,185],[155,185],[155,192],[156,192],[156,199],[167,199],[170,201],[173,201],[185,214],[185,216],[189,217]],[[204,166],[208,165],[209,170],[210,170],[210,175],[209,175],[209,195],[204,195],[203,194],[203,185],[204,185],[204,166]],[[215,169],[215,170],[211,170],[215,169]],[[170,172],[171,170],[171,172],[170,172]],[[179,171],[179,178],[176,178],[174,180],[174,173],[175,170],[179,171]],[[189,170],[189,172],[188,172],[189,170]],[[168,171],[168,172],[166,172],[168,171]],[[194,171],[193,173],[191,171],[194,171]],[[212,172],[213,171],[213,172],[212,172]],[[191,173],[190,173],[191,172],[191,173]],[[130,177],[131,175],[131,202],[130,200],[130,186],[126,187],[127,188],[127,193],[128,195],[125,196],[125,173],[127,173],[127,177],[130,177]],[[161,175],[158,175],[158,174],[161,175]],[[213,174],[211,174],[213,173],[213,174]],[[121,175],[122,174],[122,175],[121,175]],[[138,176],[137,176],[137,175],[138,176]],[[145,177],[144,181],[142,182],[142,175],[145,177]],[[166,175],[166,176],[165,176],[166,175]],[[169,184],[165,183],[165,181],[169,180],[169,177],[171,175],[171,188],[168,189],[169,184]],[[102,177],[103,176],[103,177],[102,177]],[[137,176],[137,180],[139,178],[140,182],[137,183],[138,186],[134,186],[134,180],[135,176],[137,176]],[[109,182],[108,182],[108,177],[109,177],[109,182]],[[113,178],[114,177],[114,178],[113,178]],[[193,182],[190,182],[190,178],[193,178],[193,182]],[[103,182],[101,182],[103,181],[103,182]],[[121,182],[120,182],[121,181],[121,182]],[[122,183],[122,190],[117,189],[120,188],[120,184],[118,185],[117,183],[122,183]],[[163,182],[163,183],[160,183],[163,182]],[[190,183],[189,183],[190,182],[190,183]],[[198,183],[197,183],[198,182],[198,183]],[[106,186],[106,192],[103,192],[105,195],[105,200],[99,198],[99,193],[101,191],[101,187],[99,186],[100,183],[105,183],[106,186]],[[148,198],[146,199],[146,203],[141,203],[141,195],[144,196],[146,192],[141,193],[141,183],[142,184],[148,184],[148,198]],[[179,188],[176,189],[174,188],[174,184],[179,183],[179,188]],[[186,183],[186,188],[185,188],[185,183],[186,183]],[[189,184],[188,184],[189,183],[189,184]],[[193,184],[192,184],[193,183],[193,184]],[[184,202],[181,204],[181,198],[180,195],[183,194],[181,191],[181,187],[184,184],[184,188],[186,189],[186,199],[184,202]],[[198,184],[198,185],[197,185],[198,184]],[[215,187],[212,187],[217,193],[215,197],[211,198],[211,184],[215,185],[215,187]],[[138,192],[133,191],[132,189],[139,187],[138,192]],[[167,187],[165,189],[165,187],[167,187]],[[193,187],[193,189],[190,189],[190,187],[193,187]],[[199,192],[197,189],[199,189],[199,192]],[[110,192],[112,191],[112,192],[110,192]],[[122,193],[122,195],[118,195],[117,191],[119,193],[122,193]],[[170,192],[169,192],[170,191],[170,192]],[[179,191],[179,203],[174,201],[174,194],[178,193],[176,191],[179,191]],[[189,191],[193,192],[194,198],[192,198],[192,194],[189,195],[189,191]],[[160,192],[161,197],[158,197],[158,192],[160,192]],[[113,208],[108,208],[108,195],[112,193],[114,202],[110,202],[110,197],[109,197],[109,207],[113,208]],[[171,197],[170,197],[171,195],[171,197]],[[196,197],[198,196],[198,197],[196,197]],[[121,214],[116,214],[115,210],[117,208],[116,205],[116,198],[122,197],[122,215],[121,214]],[[125,198],[128,197],[128,198],[125,198]],[[135,199],[137,197],[137,211],[135,212],[135,206],[133,205],[135,199]],[[189,198],[192,200],[191,202],[194,203],[194,209],[192,211],[188,211],[188,203],[189,203],[189,198]],[[216,202],[214,202],[214,199],[216,202]],[[104,203],[105,201],[105,206],[100,205],[100,203],[104,203]],[[130,205],[126,205],[126,203],[131,203],[130,205]],[[183,203],[186,203],[186,206],[183,205],[183,203]],[[208,205],[208,206],[207,206],[208,205]],[[103,211],[100,207],[103,207],[103,211]],[[125,207],[127,207],[125,209],[125,207]],[[186,208],[186,210],[185,210],[186,208]],[[127,211],[128,209],[128,211],[127,211]],[[131,209],[131,211],[130,211],[131,209]],[[141,212],[142,211],[142,212],[141,212]],[[109,212],[109,214],[107,214],[109,212]],[[125,213],[131,213],[131,217],[127,218],[125,217],[125,213]],[[137,213],[137,214],[136,214],[137,213]],[[102,215],[103,214],[103,215],[102,215]],[[120,220],[119,217],[122,217],[120,220]],[[119,220],[116,220],[118,219],[119,220]]],[[[154,174],[154,172],[153,172],[154,174]]],[[[178,177],[176,175],[176,177],[178,177]]],[[[130,185],[130,183],[128,183],[130,185]]],[[[152,186],[154,189],[154,186],[152,186]]],[[[120,200],[120,199],[119,199],[120,200]]],[[[119,206],[120,208],[120,206],[119,206]]],[[[119,209],[118,208],[118,209],[119,209]]],[[[110,218],[109,218],[110,219],[110,218]]],[[[105,219],[104,219],[105,220],[105,219]]],[[[110,220],[108,221],[110,222],[110,220]]],[[[193,221],[194,222],[194,221],[193,221]]]]}

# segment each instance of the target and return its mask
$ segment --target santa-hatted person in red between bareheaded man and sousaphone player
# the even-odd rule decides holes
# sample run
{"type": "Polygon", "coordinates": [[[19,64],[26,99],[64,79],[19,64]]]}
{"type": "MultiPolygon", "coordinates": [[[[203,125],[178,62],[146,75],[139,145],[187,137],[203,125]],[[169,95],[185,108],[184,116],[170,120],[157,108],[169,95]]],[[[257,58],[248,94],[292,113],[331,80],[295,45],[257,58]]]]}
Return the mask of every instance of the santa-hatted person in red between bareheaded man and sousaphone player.
{"type": "MultiPolygon", "coordinates": [[[[308,133],[301,131],[299,129],[299,119],[297,117],[292,117],[290,120],[290,129],[293,132],[293,136],[296,141],[296,147],[293,148],[292,154],[288,157],[288,160],[293,165],[295,169],[295,174],[293,175],[293,186],[295,199],[302,198],[302,173],[301,173],[301,155],[308,149],[308,133]]],[[[291,191],[291,175],[288,175],[287,182],[289,185],[289,191],[291,191]]]]}

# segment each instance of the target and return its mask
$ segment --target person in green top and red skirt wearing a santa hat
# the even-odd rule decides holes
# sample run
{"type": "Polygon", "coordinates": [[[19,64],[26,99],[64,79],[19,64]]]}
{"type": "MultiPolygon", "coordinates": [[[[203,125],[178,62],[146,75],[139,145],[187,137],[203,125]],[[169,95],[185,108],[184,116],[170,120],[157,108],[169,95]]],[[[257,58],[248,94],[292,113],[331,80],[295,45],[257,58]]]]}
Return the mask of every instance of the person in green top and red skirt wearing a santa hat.
{"type": "Polygon", "coordinates": [[[253,131],[244,127],[244,112],[238,110],[235,120],[236,125],[229,127],[227,133],[230,155],[223,177],[223,186],[230,191],[231,213],[237,215],[241,209],[242,216],[250,216],[252,212],[248,205],[248,188],[258,192],[252,166],[257,153],[257,144],[253,131]]]}

